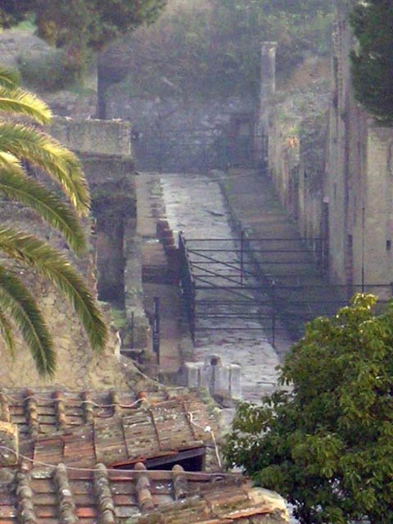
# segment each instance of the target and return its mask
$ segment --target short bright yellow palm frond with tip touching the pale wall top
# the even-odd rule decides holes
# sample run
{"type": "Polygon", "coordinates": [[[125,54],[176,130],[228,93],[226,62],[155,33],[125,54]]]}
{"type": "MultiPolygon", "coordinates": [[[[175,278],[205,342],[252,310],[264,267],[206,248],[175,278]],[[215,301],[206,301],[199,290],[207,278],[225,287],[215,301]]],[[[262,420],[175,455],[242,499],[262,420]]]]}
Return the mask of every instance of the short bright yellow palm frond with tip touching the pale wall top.
{"type": "Polygon", "coordinates": [[[0,111],[28,116],[38,124],[49,124],[52,112],[43,100],[20,88],[0,85],[0,111]]]}

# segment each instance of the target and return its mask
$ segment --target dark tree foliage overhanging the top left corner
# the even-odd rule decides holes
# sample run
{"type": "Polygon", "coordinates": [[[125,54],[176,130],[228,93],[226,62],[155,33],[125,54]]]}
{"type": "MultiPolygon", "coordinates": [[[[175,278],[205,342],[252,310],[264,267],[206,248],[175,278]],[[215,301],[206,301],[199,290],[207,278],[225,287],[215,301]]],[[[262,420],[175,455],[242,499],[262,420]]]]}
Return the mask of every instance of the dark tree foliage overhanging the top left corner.
{"type": "Polygon", "coordinates": [[[67,49],[69,63],[78,68],[87,50],[101,49],[138,25],[151,23],[165,4],[166,0],[5,0],[0,25],[10,27],[34,15],[38,36],[67,49]]]}

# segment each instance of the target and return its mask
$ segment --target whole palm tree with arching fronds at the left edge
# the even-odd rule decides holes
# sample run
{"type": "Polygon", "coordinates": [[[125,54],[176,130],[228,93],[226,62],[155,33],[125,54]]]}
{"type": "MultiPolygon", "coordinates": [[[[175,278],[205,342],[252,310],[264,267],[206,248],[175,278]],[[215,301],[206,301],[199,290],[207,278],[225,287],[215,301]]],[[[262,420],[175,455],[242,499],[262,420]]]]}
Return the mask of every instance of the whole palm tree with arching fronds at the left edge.
{"type": "MultiPolygon", "coordinates": [[[[79,216],[89,213],[90,194],[81,164],[71,151],[37,128],[35,123],[50,123],[49,108],[35,95],[20,89],[17,75],[4,69],[0,69],[0,115],[0,192],[8,200],[34,210],[64,236],[74,253],[82,253],[85,238],[79,216]],[[4,118],[5,113],[10,117],[4,118]],[[62,198],[29,176],[26,165],[54,180],[62,190],[62,198]],[[64,195],[69,203],[64,202],[64,195]]],[[[2,224],[0,252],[0,332],[12,355],[16,325],[38,373],[54,373],[52,337],[35,298],[17,276],[15,264],[34,269],[52,282],[73,305],[93,350],[104,348],[107,329],[101,312],[66,257],[38,237],[2,224]]]]}

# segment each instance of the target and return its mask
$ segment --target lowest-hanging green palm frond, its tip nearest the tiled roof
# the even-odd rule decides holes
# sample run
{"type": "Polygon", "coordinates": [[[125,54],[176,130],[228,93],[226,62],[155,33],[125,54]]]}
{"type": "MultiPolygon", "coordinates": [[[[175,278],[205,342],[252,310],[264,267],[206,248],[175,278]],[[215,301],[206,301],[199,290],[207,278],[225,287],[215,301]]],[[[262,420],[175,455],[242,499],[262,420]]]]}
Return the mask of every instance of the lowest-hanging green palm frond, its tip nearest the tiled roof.
{"type": "Polygon", "coordinates": [[[0,266],[0,307],[14,319],[28,345],[38,373],[53,375],[56,356],[43,316],[23,283],[0,266]]]}

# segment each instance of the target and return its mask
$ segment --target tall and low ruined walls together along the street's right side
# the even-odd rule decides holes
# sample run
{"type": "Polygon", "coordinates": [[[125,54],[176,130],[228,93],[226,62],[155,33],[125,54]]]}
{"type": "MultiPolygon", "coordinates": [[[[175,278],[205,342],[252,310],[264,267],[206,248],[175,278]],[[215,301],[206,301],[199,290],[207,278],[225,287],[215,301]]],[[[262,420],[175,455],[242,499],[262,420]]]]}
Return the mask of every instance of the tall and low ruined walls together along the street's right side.
{"type": "Polygon", "coordinates": [[[393,130],[354,99],[348,13],[337,6],[332,67],[308,59],[270,96],[269,172],[302,237],[324,239],[330,282],[391,296],[393,130]],[[292,84],[292,86],[291,86],[292,84]],[[380,285],[380,286],[373,286],[380,285]]]}

